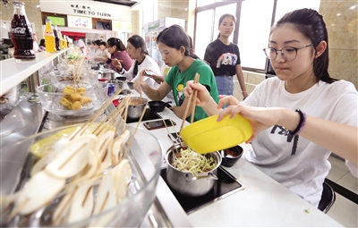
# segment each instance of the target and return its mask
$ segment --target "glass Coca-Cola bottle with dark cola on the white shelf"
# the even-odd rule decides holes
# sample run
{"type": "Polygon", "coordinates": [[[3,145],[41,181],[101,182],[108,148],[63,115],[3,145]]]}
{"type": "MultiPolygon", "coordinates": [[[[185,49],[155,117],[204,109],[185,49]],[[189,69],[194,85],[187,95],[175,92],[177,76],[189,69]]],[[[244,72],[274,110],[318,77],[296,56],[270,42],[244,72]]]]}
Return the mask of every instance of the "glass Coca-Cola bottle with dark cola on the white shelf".
{"type": "Polygon", "coordinates": [[[14,46],[13,57],[21,60],[36,58],[33,51],[33,33],[25,13],[25,4],[13,1],[13,21],[11,37],[14,46]]]}

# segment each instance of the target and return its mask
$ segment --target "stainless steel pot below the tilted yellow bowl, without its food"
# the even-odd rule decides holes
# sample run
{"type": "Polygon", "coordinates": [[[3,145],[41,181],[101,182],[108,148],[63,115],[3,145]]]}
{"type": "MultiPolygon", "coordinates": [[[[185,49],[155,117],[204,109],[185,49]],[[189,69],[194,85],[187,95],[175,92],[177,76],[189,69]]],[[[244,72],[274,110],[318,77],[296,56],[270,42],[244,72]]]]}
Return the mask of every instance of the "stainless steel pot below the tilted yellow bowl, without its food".
{"type": "MultiPolygon", "coordinates": [[[[176,148],[180,148],[177,146],[176,148]]],[[[173,151],[175,146],[166,151],[166,181],[172,190],[190,197],[202,196],[211,190],[217,182],[217,168],[221,164],[221,156],[217,152],[210,153],[217,160],[217,166],[207,173],[185,173],[171,165],[173,151]]]]}

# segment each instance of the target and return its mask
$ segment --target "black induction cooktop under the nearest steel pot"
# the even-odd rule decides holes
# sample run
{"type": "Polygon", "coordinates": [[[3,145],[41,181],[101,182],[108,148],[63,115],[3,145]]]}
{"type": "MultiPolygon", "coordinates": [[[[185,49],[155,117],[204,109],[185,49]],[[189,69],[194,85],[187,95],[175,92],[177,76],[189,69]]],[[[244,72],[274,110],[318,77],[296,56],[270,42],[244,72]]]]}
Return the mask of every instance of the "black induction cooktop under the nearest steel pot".
{"type": "MultiPolygon", "coordinates": [[[[166,168],[161,170],[160,175],[166,182],[166,168]]],[[[179,204],[183,207],[183,210],[189,215],[201,207],[205,207],[220,198],[225,198],[226,196],[229,196],[238,190],[243,190],[244,188],[243,184],[239,182],[231,173],[228,173],[222,166],[219,166],[217,169],[217,178],[218,180],[212,190],[200,197],[183,196],[180,193],[175,192],[175,190],[171,190],[179,204]]],[[[168,187],[170,189],[169,185],[168,187]]]]}

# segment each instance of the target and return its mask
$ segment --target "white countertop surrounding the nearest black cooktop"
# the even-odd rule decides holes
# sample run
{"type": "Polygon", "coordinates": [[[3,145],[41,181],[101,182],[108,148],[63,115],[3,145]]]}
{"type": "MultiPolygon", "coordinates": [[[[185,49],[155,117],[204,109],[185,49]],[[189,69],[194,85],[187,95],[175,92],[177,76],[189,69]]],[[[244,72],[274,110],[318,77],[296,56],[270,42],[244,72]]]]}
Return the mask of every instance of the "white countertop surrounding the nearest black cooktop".
{"type": "MultiPolygon", "coordinates": [[[[139,96],[139,93],[131,89],[132,96],[139,96]]],[[[143,97],[146,97],[142,94],[143,97]]],[[[148,98],[148,97],[147,97],[148,98]]],[[[150,99],[149,99],[150,100],[150,99]]],[[[164,151],[173,146],[173,141],[169,139],[168,131],[176,132],[180,130],[182,119],[175,113],[165,108],[158,113],[163,119],[170,119],[176,123],[174,127],[167,127],[155,130],[147,130],[143,122],[128,123],[142,131],[149,131],[162,144],[164,151]]],[[[154,121],[154,120],[152,120],[154,121]]],[[[184,122],[183,127],[190,122],[184,122]]],[[[202,143],[205,143],[203,141],[202,143]]],[[[242,143],[243,153],[251,149],[250,144],[242,143]]],[[[162,165],[166,168],[165,162],[162,165]]],[[[300,198],[291,190],[286,189],[279,182],[262,173],[258,167],[239,159],[232,167],[225,167],[226,171],[243,184],[242,190],[233,194],[228,194],[225,198],[220,198],[214,202],[200,207],[191,213],[186,214],[183,210],[176,210],[176,217],[183,217],[182,224],[177,226],[192,227],[344,227],[337,223],[318,208],[300,198]]],[[[159,177],[158,185],[166,186],[166,182],[159,177]]],[[[157,196],[160,196],[158,190],[157,196]]],[[[159,197],[160,198],[160,197],[159,197]]],[[[162,199],[165,201],[166,199],[162,199]]],[[[173,207],[178,205],[175,199],[171,198],[170,203],[173,207]]],[[[167,203],[167,202],[166,202],[167,203]]],[[[166,213],[170,214],[166,210],[166,213]]],[[[175,216],[175,215],[174,215],[175,216]]],[[[179,219],[178,219],[179,220],[179,219]]]]}

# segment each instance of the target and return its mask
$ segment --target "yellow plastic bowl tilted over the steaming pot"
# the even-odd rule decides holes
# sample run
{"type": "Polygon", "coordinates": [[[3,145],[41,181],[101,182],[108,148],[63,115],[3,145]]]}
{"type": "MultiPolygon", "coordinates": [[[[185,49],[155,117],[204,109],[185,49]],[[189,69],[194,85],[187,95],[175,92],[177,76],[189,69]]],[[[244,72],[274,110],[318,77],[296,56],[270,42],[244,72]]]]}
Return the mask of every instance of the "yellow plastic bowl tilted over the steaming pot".
{"type": "Polygon", "coordinates": [[[220,122],[214,115],[184,127],[180,135],[189,148],[206,154],[243,143],[251,138],[252,128],[241,114],[227,114],[220,122]]]}

